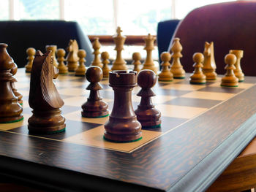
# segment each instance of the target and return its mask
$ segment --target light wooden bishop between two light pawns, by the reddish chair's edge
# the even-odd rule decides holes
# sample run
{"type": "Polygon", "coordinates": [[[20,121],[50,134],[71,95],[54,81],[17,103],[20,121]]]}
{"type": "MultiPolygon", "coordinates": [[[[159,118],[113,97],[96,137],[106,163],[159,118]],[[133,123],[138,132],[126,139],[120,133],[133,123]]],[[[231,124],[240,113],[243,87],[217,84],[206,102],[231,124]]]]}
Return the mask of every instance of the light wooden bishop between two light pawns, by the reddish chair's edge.
{"type": "Polygon", "coordinates": [[[178,37],[174,38],[173,45],[170,48],[170,50],[172,51],[171,56],[173,58],[173,62],[170,66],[170,72],[173,73],[173,77],[175,79],[184,79],[185,71],[180,61],[180,58],[182,57],[182,54],[181,54],[182,46],[179,40],[180,39],[178,37]]]}

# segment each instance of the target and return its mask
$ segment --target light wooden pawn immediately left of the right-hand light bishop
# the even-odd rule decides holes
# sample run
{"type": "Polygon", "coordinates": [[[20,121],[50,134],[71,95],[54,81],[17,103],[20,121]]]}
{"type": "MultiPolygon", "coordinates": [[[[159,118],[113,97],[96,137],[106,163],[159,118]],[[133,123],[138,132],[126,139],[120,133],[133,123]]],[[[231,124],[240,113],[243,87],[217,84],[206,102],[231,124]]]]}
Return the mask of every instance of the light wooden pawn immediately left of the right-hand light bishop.
{"type": "Polygon", "coordinates": [[[159,81],[173,81],[173,73],[170,72],[170,58],[171,55],[168,52],[161,53],[162,70],[158,74],[159,81]]]}

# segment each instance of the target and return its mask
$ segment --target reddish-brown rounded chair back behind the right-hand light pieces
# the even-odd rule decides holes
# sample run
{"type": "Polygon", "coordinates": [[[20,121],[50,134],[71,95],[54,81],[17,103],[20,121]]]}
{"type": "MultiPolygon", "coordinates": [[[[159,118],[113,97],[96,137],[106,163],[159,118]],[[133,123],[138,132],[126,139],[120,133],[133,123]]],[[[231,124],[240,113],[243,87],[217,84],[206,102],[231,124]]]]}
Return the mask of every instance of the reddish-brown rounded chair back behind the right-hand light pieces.
{"type": "Polygon", "coordinates": [[[246,76],[255,76],[255,13],[256,1],[231,1],[194,9],[178,24],[170,45],[174,37],[181,39],[181,64],[186,72],[193,71],[192,55],[202,53],[206,41],[214,42],[217,74],[225,74],[224,57],[229,50],[244,50],[241,68],[246,76]]]}

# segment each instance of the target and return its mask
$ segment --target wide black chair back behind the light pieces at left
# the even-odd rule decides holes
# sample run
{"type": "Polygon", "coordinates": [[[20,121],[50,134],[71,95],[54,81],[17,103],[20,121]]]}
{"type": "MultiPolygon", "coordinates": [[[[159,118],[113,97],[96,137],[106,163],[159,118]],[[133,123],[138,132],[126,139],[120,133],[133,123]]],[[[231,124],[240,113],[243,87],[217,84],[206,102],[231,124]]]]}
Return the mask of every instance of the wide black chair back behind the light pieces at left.
{"type": "Polygon", "coordinates": [[[93,60],[91,42],[76,22],[64,20],[0,21],[0,42],[7,43],[7,51],[18,67],[24,67],[27,63],[27,48],[34,47],[42,53],[45,53],[45,45],[57,45],[58,48],[66,49],[69,39],[76,39],[79,48],[86,50],[86,65],[90,65],[93,60]]]}

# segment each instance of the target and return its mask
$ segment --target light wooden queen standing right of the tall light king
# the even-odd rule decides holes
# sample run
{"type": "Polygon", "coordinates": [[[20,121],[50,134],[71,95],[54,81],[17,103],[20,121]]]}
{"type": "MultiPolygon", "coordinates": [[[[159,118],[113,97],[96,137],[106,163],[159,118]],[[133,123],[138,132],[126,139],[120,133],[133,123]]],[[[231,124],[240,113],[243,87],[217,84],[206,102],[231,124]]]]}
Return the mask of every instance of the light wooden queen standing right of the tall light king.
{"type": "Polygon", "coordinates": [[[151,34],[148,34],[147,37],[144,38],[145,41],[145,47],[144,50],[146,50],[146,60],[143,62],[143,69],[151,69],[157,74],[157,67],[154,66],[154,61],[152,58],[152,51],[154,50],[154,41],[156,40],[156,37],[152,36],[151,34]]]}

